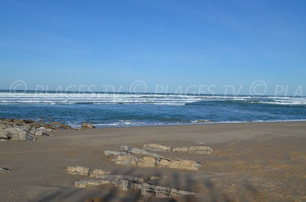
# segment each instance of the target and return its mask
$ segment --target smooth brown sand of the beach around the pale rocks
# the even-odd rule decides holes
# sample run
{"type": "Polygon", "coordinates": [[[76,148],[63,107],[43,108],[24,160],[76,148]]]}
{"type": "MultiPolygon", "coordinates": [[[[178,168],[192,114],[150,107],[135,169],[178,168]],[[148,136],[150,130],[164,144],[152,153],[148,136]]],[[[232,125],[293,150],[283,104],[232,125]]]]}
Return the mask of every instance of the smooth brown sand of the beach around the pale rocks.
{"type": "Polygon", "coordinates": [[[306,122],[231,123],[161,127],[61,130],[36,141],[0,142],[0,201],[306,201],[306,122]],[[198,171],[115,165],[105,150],[204,145],[213,155],[157,152],[196,160],[198,171]],[[66,173],[67,166],[99,168],[146,182],[196,192],[189,197],[143,198],[111,184],[75,188],[88,179],[66,173]],[[150,181],[150,176],[161,179],[150,181]],[[167,177],[167,178],[163,178],[167,177]]]}

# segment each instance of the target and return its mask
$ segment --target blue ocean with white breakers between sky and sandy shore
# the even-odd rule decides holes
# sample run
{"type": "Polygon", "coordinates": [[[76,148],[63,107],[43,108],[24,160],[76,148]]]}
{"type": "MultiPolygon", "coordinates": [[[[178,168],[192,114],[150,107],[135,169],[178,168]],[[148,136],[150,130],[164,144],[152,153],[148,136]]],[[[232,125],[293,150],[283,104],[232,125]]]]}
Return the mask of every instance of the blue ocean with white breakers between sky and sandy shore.
{"type": "Polygon", "coordinates": [[[0,91],[0,118],[72,127],[306,120],[306,97],[0,91]]]}

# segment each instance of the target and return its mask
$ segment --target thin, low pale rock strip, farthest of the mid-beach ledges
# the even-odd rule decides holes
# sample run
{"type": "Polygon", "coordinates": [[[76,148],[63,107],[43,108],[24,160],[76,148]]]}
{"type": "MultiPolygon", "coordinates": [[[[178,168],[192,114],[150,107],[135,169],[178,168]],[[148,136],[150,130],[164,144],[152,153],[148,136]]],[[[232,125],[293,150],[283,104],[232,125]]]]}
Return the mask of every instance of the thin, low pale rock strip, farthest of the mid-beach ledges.
{"type": "Polygon", "coordinates": [[[213,148],[209,146],[189,146],[189,147],[167,147],[159,145],[157,143],[146,143],[143,145],[143,149],[152,151],[163,151],[163,152],[186,152],[195,154],[212,154],[213,148]]]}

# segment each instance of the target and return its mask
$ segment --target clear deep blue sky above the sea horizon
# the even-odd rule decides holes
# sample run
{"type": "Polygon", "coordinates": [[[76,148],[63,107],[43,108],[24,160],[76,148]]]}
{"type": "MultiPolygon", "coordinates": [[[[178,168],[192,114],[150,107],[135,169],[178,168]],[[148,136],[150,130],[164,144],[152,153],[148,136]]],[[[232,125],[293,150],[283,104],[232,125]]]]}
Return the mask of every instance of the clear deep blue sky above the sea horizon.
{"type": "Polygon", "coordinates": [[[0,89],[306,96],[305,9],[0,0],[0,89]]]}

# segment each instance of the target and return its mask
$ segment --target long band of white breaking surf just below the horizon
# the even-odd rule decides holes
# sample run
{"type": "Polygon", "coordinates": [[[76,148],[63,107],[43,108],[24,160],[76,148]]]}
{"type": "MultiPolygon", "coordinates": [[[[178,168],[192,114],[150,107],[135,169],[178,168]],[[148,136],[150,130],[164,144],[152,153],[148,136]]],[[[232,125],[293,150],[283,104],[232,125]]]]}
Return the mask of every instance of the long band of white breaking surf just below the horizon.
{"type": "Polygon", "coordinates": [[[184,105],[193,102],[244,101],[246,103],[306,105],[306,98],[251,97],[251,96],[195,96],[164,94],[110,94],[110,93],[0,93],[1,104],[155,104],[184,105]]]}

